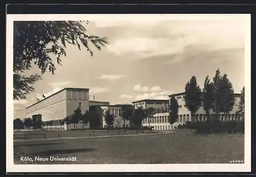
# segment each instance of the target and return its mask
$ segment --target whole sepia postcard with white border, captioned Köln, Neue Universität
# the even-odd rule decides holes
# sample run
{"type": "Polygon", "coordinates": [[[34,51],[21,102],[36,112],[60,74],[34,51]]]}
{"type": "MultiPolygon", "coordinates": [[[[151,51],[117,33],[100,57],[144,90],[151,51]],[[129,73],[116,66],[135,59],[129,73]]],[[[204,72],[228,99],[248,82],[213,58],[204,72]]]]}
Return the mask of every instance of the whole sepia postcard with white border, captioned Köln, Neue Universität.
{"type": "Polygon", "coordinates": [[[7,15],[7,39],[10,171],[250,171],[250,15],[7,15]]]}

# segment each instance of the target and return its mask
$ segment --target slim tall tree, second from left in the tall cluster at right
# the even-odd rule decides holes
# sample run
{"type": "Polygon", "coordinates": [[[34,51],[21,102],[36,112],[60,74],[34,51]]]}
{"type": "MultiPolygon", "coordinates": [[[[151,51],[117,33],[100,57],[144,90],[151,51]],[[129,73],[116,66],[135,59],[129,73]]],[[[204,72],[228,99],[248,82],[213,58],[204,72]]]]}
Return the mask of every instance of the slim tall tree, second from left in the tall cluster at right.
{"type": "Polygon", "coordinates": [[[210,110],[214,105],[214,83],[210,82],[209,76],[205,78],[202,101],[207,120],[210,118],[210,110]]]}

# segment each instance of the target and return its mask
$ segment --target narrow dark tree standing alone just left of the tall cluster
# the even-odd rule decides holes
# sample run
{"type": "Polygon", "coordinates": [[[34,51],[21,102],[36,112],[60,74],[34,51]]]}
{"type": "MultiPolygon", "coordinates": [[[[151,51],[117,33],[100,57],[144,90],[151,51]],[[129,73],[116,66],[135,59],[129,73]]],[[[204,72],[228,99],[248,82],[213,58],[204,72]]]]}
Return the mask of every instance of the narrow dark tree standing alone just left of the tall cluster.
{"type": "Polygon", "coordinates": [[[170,106],[169,106],[169,119],[168,122],[170,123],[170,125],[172,126],[173,129],[173,124],[174,122],[177,121],[177,119],[179,118],[179,105],[178,105],[178,101],[175,98],[175,95],[170,96],[170,106]]]}

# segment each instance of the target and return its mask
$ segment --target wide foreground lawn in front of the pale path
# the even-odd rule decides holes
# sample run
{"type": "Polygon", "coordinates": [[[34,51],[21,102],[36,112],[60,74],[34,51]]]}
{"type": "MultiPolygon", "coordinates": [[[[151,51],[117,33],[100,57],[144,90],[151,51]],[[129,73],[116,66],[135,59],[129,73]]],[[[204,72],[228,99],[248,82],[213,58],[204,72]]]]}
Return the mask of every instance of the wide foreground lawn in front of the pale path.
{"type": "Polygon", "coordinates": [[[177,130],[168,135],[14,142],[14,163],[29,163],[20,162],[20,156],[77,158],[30,164],[229,163],[244,160],[244,136],[177,130]]]}

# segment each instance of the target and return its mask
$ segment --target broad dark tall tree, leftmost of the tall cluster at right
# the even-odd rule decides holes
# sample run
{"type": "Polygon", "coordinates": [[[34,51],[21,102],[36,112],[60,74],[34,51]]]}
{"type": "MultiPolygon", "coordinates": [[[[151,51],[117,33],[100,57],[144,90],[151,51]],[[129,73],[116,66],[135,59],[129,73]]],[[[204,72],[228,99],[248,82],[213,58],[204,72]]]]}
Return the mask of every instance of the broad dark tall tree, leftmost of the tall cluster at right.
{"type": "Polygon", "coordinates": [[[191,121],[194,121],[194,115],[201,106],[201,89],[197,85],[197,78],[193,76],[190,81],[186,83],[185,94],[183,99],[187,109],[191,113],[191,121]]]}

